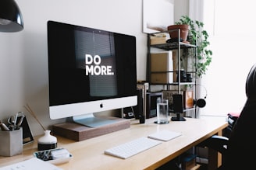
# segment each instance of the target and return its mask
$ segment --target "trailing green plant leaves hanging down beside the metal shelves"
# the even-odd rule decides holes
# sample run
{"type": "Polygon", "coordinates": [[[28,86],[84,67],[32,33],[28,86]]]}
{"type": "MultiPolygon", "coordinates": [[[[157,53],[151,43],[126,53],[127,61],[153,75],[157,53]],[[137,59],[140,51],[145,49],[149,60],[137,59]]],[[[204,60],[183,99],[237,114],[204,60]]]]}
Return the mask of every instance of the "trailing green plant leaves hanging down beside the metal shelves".
{"type": "Polygon", "coordinates": [[[208,66],[212,62],[212,50],[208,50],[210,42],[208,41],[208,33],[204,30],[204,23],[192,20],[189,16],[181,16],[176,24],[190,26],[188,41],[197,44],[197,62],[194,63],[194,67],[196,68],[197,76],[202,77],[202,75],[206,74],[208,66]]]}

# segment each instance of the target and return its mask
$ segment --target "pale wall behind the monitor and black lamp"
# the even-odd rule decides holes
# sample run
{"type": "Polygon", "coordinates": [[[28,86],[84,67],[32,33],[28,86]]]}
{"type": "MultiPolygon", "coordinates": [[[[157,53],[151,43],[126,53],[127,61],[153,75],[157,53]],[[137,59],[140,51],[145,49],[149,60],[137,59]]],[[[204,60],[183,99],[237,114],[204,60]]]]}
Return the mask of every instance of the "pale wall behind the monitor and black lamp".
{"type": "Polygon", "coordinates": [[[0,120],[23,111],[34,135],[43,130],[23,108],[27,103],[44,127],[63,120],[48,116],[48,20],[126,33],[137,37],[137,79],[146,77],[147,36],[142,0],[16,0],[24,29],[0,33],[0,120]]]}

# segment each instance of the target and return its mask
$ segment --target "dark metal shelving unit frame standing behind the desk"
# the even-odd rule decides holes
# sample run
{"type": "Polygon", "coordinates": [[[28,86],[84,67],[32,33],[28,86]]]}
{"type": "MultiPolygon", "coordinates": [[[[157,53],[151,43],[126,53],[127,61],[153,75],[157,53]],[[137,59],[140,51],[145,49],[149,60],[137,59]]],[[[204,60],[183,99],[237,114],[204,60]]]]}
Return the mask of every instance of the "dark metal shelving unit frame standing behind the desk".
{"type": "MultiPolygon", "coordinates": [[[[181,65],[180,65],[180,59],[181,59],[181,50],[182,49],[188,49],[188,48],[194,48],[194,50],[197,50],[197,46],[195,44],[190,44],[190,43],[183,43],[180,42],[180,29],[176,29],[174,31],[178,31],[179,32],[179,37],[176,41],[172,42],[172,43],[159,43],[159,44],[153,44],[151,45],[151,36],[155,36],[158,33],[150,33],[148,34],[148,62],[147,62],[147,81],[149,82],[149,91],[151,91],[151,85],[163,85],[162,90],[170,90],[172,89],[172,86],[176,86],[177,92],[179,94],[181,94],[181,87],[184,85],[190,85],[190,86],[194,86],[194,99],[196,99],[196,95],[197,95],[197,74],[196,74],[196,69],[194,68],[194,70],[192,71],[186,71],[186,73],[190,73],[193,77],[193,81],[192,82],[181,82],[181,65]],[[151,48],[156,48],[156,49],[161,49],[161,50],[165,50],[165,51],[170,51],[170,50],[176,50],[177,51],[177,55],[176,55],[176,60],[177,60],[177,64],[176,64],[176,70],[172,70],[172,71],[151,71],[151,48]],[[173,73],[173,75],[177,75],[176,81],[173,80],[173,82],[171,83],[151,83],[151,74],[169,74],[169,73],[173,73]]],[[[161,33],[169,33],[169,31],[166,32],[161,32],[161,33]]],[[[196,53],[194,53],[194,63],[197,62],[197,56],[196,53]]],[[[187,111],[191,111],[194,110],[194,116],[196,117],[196,107],[194,106],[193,108],[190,109],[183,109],[183,112],[187,112],[187,111]]],[[[172,111],[172,110],[171,110],[172,111]]]]}

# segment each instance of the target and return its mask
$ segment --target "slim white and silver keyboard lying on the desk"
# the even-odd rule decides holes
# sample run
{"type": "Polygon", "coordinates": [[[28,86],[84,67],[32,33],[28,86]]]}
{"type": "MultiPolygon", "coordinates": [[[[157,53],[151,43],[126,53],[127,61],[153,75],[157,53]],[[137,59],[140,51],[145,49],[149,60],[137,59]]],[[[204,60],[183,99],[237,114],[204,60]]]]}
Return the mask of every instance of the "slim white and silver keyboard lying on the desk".
{"type": "Polygon", "coordinates": [[[162,144],[162,141],[156,141],[149,139],[148,137],[140,137],[133,141],[109,148],[105,150],[105,154],[126,159],[142,151],[148,150],[151,147],[155,147],[158,144],[162,144]]]}

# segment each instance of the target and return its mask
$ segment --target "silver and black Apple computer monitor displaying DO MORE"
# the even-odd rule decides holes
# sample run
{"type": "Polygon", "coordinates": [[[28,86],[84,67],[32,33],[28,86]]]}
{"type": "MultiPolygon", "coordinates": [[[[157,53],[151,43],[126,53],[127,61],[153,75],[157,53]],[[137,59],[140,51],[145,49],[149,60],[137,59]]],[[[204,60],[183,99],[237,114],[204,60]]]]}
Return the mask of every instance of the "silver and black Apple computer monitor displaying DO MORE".
{"type": "Polygon", "coordinates": [[[136,38],[48,21],[49,114],[98,127],[93,113],[137,105],[136,38]]]}

